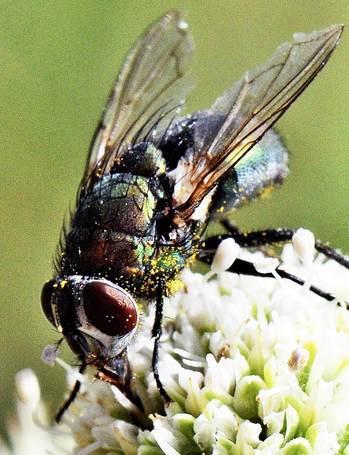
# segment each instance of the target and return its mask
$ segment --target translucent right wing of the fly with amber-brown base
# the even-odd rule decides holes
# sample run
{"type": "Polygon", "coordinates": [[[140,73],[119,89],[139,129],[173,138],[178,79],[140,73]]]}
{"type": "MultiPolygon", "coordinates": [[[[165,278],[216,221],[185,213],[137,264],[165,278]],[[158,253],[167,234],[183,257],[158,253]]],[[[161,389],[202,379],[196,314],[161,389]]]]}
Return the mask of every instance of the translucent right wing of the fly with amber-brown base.
{"type": "Polygon", "coordinates": [[[213,106],[196,114],[194,146],[171,171],[173,207],[188,219],[217,184],[302,93],[331,56],[342,32],[333,25],[296,33],[264,65],[247,72],[213,106]]]}

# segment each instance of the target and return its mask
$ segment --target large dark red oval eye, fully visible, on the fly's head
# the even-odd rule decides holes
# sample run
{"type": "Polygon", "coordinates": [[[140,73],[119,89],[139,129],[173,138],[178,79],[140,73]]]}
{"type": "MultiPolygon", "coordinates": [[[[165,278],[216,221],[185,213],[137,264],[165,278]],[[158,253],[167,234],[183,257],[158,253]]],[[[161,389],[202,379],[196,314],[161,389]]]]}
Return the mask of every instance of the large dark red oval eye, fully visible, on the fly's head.
{"type": "Polygon", "coordinates": [[[102,281],[86,284],[83,307],[91,324],[106,335],[123,337],[137,326],[134,299],[121,288],[102,281]]]}

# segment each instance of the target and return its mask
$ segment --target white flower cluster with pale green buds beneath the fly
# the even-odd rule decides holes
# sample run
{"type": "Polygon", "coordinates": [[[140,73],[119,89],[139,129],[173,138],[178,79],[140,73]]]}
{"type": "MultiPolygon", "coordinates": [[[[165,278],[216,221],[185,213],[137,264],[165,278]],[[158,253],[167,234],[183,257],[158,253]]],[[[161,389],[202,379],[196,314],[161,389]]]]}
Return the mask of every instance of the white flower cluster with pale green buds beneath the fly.
{"type": "Polygon", "coordinates": [[[303,265],[292,245],[282,261],[339,300],[286,280],[186,270],[164,306],[159,372],[173,402],[164,409],[151,373],[145,315],[129,352],[145,414],[108,384],[85,383],[58,429],[45,432],[54,453],[64,453],[63,429],[78,455],[349,453],[349,311],[337,305],[349,302],[349,271],[322,255],[303,265]]]}

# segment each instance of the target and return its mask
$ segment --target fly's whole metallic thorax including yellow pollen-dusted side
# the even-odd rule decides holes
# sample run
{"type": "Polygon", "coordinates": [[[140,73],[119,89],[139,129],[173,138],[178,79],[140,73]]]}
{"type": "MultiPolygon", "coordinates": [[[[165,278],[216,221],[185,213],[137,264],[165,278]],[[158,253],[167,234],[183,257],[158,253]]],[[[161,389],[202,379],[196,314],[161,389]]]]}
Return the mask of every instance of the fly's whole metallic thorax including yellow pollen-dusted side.
{"type": "MultiPolygon", "coordinates": [[[[157,225],[171,225],[163,222],[165,170],[161,152],[141,143],[97,181],[72,218],[62,275],[106,278],[140,296],[152,295],[159,280],[168,295],[178,289],[176,278],[199,236],[192,226],[172,226],[168,232],[157,225]]],[[[196,224],[202,230],[203,223],[196,224]]]]}

